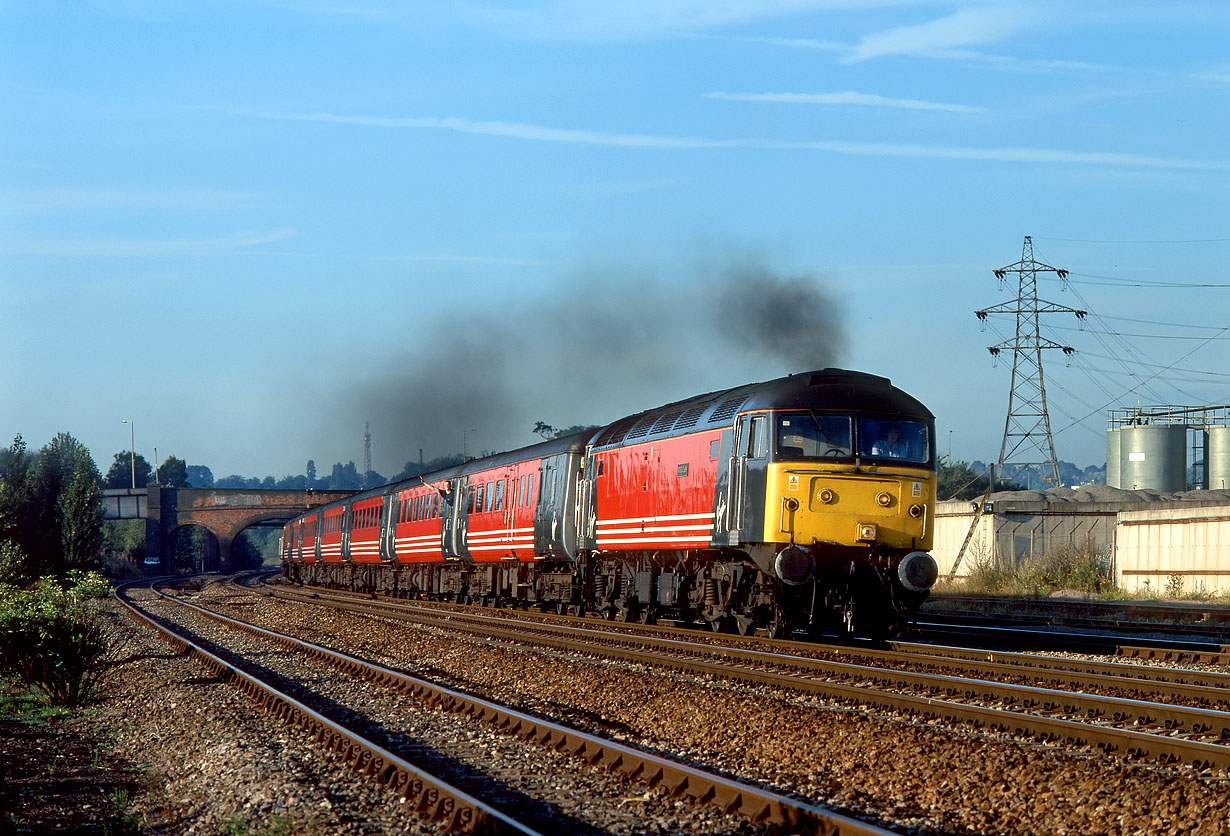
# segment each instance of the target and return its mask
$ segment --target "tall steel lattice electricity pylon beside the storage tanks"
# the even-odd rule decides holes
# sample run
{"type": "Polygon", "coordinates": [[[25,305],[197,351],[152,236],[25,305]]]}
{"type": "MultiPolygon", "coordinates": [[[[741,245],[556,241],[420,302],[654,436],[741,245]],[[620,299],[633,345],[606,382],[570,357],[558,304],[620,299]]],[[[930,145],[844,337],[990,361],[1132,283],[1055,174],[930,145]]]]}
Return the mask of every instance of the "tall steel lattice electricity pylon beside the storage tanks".
{"type": "Polygon", "coordinates": [[[1047,414],[1042,349],[1058,348],[1068,355],[1074,354],[1076,349],[1043,338],[1038,332],[1038,315],[1075,314],[1076,318],[1084,322],[1086,311],[1038,299],[1038,273],[1055,273],[1060,279],[1066,279],[1068,270],[1034,261],[1033,241],[1028,235],[1025,236],[1021,261],[995,270],[1001,290],[1009,273],[1016,273],[1018,277],[1016,299],[974,311],[982,320],[984,329],[990,314],[1016,315],[1016,337],[999,345],[988,347],[996,360],[1000,352],[1012,349],[1012,385],[1009,388],[1007,419],[1004,422],[1004,443],[1000,445],[996,471],[1002,473],[1004,478],[1026,475],[1026,479],[1027,475],[1033,472],[1038,475],[1042,487],[1058,487],[1059,460],[1055,456],[1055,443],[1050,436],[1050,417],[1047,414]]]}

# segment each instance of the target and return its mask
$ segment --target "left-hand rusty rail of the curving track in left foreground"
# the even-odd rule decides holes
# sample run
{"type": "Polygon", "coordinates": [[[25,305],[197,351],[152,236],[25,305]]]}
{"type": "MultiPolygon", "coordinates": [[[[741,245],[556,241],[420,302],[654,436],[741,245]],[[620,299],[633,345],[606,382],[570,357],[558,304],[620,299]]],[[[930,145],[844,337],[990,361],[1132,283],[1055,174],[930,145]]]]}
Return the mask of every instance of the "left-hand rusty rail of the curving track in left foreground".
{"type": "MultiPolygon", "coordinates": [[[[123,584],[114,591],[116,600],[137,623],[153,628],[177,652],[203,664],[220,681],[235,685],[274,718],[308,732],[316,744],[341,756],[359,776],[367,776],[407,799],[411,809],[428,821],[443,822],[448,832],[476,836],[541,836],[493,806],[458,789],[446,781],[415,766],[410,761],[347,729],[272,685],[240,670],[216,654],[160,623],[128,600],[128,589],[148,582],[123,584]]],[[[153,584],[150,584],[150,589],[153,584]]],[[[156,589],[154,590],[159,595],[156,589]]],[[[164,596],[165,597],[165,596],[164,596]]],[[[191,605],[187,605],[191,606],[191,605]]]]}

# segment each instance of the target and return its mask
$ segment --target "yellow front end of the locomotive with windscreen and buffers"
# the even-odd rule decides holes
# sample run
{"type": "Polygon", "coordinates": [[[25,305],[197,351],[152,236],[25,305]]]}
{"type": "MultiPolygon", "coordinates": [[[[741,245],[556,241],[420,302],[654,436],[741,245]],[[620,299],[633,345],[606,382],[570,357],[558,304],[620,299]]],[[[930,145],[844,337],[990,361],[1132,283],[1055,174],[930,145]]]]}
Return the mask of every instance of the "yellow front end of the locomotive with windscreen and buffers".
{"type": "Polygon", "coordinates": [[[813,626],[866,633],[908,621],[937,575],[927,553],[932,418],[818,409],[766,418],[763,542],[774,574],[811,597],[813,626]]]}

